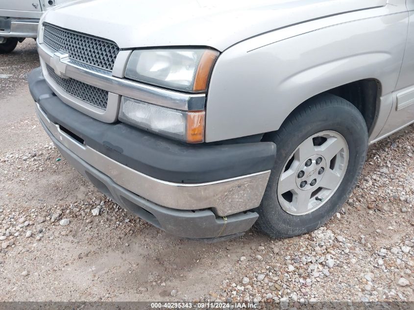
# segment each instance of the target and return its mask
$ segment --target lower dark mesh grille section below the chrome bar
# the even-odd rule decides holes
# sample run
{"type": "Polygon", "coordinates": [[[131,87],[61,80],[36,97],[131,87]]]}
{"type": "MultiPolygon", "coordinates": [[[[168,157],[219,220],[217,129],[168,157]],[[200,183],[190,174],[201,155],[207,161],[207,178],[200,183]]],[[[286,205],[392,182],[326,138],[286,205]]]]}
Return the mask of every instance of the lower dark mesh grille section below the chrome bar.
{"type": "Polygon", "coordinates": [[[46,65],[46,69],[53,81],[65,92],[89,103],[99,109],[106,110],[108,92],[95,86],[74,80],[73,78],[61,78],[52,67],[46,65]]]}

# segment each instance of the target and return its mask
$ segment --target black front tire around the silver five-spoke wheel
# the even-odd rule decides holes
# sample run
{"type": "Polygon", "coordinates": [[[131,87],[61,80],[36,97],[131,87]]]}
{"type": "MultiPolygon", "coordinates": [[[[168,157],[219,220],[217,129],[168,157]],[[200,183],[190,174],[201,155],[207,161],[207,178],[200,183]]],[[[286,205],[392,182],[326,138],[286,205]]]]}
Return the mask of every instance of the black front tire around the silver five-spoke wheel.
{"type": "MultiPolygon", "coordinates": [[[[334,141],[334,138],[330,139],[329,135],[328,138],[329,140],[326,141],[334,141]]],[[[256,209],[259,218],[257,219],[255,226],[273,238],[288,238],[309,233],[325,224],[333,215],[335,215],[351,194],[361,175],[368,146],[367,128],[361,113],[350,102],[331,94],[317,95],[306,101],[297,111],[292,113],[292,115],[285,120],[277,132],[265,135],[263,140],[272,141],[277,145],[277,155],[262,203],[256,209]],[[292,214],[295,211],[290,206],[294,205],[294,203],[290,203],[290,199],[296,201],[296,207],[297,210],[299,210],[299,200],[294,197],[296,197],[296,192],[301,192],[300,187],[303,184],[300,183],[297,185],[298,181],[296,181],[297,188],[293,191],[278,195],[278,184],[284,182],[282,181],[281,174],[285,172],[288,173],[291,169],[294,171],[293,168],[286,170],[288,165],[292,166],[293,163],[299,167],[298,169],[304,167],[299,166],[301,164],[296,161],[295,154],[298,152],[300,154],[300,151],[297,151],[300,149],[299,146],[302,145],[301,143],[305,143],[305,141],[312,141],[313,143],[315,143],[315,141],[322,141],[318,143],[325,143],[323,142],[323,139],[325,139],[324,137],[316,138],[317,140],[309,139],[315,134],[319,135],[320,133],[326,132],[336,135],[335,137],[338,137],[338,139],[341,139],[340,137],[342,137],[344,141],[346,141],[348,151],[347,167],[344,168],[345,166],[341,166],[341,163],[338,162],[338,167],[342,170],[335,173],[342,174],[342,177],[341,180],[339,180],[340,178],[338,177],[339,181],[337,182],[339,182],[339,184],[335,190],[330,190],[331,196],[328,196],[329,198],[323,201],[323,199],[318,196],[311,196],[309,205],[315,204],[316,208],[319,200],[322,200],[320,202],[320,207],[317,207],[316,210],[307,214],[292,214]],[[291,162],[291,164],[289,164],[289,162],[291,162]],[[291,194],[293,198],[290,198],[291,194]],[[285,199],[284,197],[287,198],[285,199]],[[315,199],[315,201],[313,199],[315,199]],[[282,206],[284,206],[284,208],[282,208],[282,206]]],[[[341,142],[343,140],[338,141],[341,142]]],[[[322,146],[314,146],[314,148],[323,148],[323,145],[324,144],[322,144],[322,146]]],[[[336,161],[343,161],[344,163],[346,159],[344,154],[346,155],[345,146],[329,163],[326,161],[326,165],[328,165],[326,169],[336,167],[336,161]],[[334,163],[334,165],[332,165],[332,163],[334,163]]],[[[305,162],[305,165],[306,163],[309,163],[309,161],[305,162]]],[[[317,160],[313,162],[312,165],[317,165],[317,160]]],[[[317,173],[319,172],[320,171],[317,173]]],[[[325,173],[328,172],[331,171],[325,171],[325,173]]],[[[313,178],[313,175],[317,175],[316,172],[313,172],[315,174],[311,173],[312,172],[309,173],[309,175],[311,175],[310,178],[313,178]]],[[[301,175],[302,174],[299,175],[298,173],[296,177],[299,178],[301,175]]],[[[323,177],[326,177],[326,175],[327,174],[324,174],[323,177]]],[[[323,184],[326,184],[328,179],[329,178],[327,177],[326,181],[324,181],[322,178],[320,184],[322,184],[322,182],[323,184]]],[[[285,183],[283,184],[285,186],[285,183]]],[[[284,186],[280,186],[282,188],[280,189],[280,192],[284,191],[284,186]]],[[[308,183],[306,186],[309,187],[311,185],[308,183]]],[[[320,187],[319,189],[320,192],[329,191],[323,187],[320,187]]],[[[308,210],[309,205],[305,205],[305,210],[308,210]]]]}

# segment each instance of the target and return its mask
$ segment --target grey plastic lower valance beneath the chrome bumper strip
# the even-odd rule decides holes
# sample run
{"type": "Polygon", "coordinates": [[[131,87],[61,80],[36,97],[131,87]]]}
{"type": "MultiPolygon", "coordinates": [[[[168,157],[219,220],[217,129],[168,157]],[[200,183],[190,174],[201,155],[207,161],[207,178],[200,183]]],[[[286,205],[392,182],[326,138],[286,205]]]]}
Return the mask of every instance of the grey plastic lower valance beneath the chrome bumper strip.
{"type": "Polygon", "coordinates": [[[216,239],[233,237],[243,234],[254,224],[258,217],[255,212],[217,217],[211,210],[185,211],[161,207],[116,184],[111,178],[86,163],[63,143],[59,142],[42,119],[41,124],[66,160],[99,191],[129,212],[138,215],[167,233],[183,238],[216,239]]]}

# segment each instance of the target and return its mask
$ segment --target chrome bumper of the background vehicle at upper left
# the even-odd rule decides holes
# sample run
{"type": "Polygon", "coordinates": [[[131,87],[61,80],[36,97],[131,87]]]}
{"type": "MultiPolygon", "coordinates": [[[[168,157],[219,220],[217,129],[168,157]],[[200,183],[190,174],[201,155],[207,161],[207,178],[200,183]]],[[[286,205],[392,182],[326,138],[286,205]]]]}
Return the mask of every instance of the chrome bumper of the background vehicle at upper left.
{"type": "Polygon", "coordinates": [[[38,19],[8,19],[4,21],[4,31],[0,30],[3,38],[36,38],[38,19]],[[6,22],[7,21],[7,22],[6,22]]]}

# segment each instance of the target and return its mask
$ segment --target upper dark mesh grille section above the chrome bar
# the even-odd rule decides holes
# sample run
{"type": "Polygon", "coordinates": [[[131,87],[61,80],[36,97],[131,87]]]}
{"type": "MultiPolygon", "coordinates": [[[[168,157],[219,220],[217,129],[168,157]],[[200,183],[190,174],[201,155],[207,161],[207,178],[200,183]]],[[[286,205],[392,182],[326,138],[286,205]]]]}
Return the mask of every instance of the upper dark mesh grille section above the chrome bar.
{"type": "Polygon", "coordinates": [[[112,42],[45,24],[43,42],[54,51],[85,64],[112,71],[119,47],[112,42]]]}

